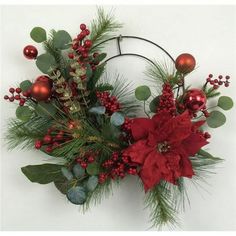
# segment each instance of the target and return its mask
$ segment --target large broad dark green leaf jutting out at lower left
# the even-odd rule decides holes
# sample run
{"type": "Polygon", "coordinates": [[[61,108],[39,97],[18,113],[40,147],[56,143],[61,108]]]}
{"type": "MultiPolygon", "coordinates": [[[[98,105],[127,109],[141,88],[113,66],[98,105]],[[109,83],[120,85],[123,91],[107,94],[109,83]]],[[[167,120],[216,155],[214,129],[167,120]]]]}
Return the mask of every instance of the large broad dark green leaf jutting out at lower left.
{"type": "Polygon", "coordinates": [[[62,165],[43,164],[22,167],[24,175],[31,181],[39,184],[48,184],[62,178],[62,165]]]}

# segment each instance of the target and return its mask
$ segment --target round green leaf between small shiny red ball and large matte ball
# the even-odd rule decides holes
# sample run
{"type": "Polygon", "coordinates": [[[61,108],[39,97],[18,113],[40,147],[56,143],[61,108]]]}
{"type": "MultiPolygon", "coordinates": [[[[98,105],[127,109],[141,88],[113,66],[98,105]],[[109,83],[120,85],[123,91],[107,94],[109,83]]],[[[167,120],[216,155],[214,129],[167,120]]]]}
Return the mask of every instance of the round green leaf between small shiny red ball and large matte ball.
{"type": "Polygon", "coordinates": [[[36,66],[44,74],[48,74],[50,71],[56,68],[57,63],[52,55],[45,53],[37,57],[36,66]]]}

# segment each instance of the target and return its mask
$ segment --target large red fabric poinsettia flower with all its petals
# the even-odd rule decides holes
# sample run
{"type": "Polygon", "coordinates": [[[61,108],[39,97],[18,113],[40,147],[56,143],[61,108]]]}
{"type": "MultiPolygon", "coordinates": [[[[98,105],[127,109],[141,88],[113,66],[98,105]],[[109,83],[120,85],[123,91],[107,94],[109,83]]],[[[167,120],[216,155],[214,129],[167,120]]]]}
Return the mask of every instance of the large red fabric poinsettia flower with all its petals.
{"type": "Polygon", "coordinates": [[[208,143],[198,130],[204,122],[192,122],[188,112],[175,117],[160,112],[152,119],[133,120],[131,132],[135,142],[124,154],[141,166],[145,191],[161,179],[176,184],[179,177],[194,175],[189,157],[208,143]]]}

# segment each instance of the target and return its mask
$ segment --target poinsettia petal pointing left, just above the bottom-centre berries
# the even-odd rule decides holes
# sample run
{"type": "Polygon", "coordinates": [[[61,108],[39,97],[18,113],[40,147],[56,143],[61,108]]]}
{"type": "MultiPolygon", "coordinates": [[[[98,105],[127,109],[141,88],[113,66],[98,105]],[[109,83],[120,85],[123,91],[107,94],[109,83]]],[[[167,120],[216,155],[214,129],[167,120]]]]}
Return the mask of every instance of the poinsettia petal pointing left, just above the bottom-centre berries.
{"type": "Polygon", "coordinates": [[[147,146],[146,140],[140,140],[125,149],[123,153],[129,156],[132,162],[143,164],[147,155],[152,151],[153,148],[147,146]]]}

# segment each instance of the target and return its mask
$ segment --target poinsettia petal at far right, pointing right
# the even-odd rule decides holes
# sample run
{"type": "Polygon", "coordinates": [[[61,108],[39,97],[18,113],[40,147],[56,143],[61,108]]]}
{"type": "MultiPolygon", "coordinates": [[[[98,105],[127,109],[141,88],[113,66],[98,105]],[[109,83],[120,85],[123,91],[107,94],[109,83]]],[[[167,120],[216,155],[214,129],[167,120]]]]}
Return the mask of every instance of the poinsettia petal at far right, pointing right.
{"type": "Polygon", "coordinates": [[[182,141],[182,147],[188,156],[194,156],[201,147],[208,144],[206,139],[199,133],[192,133],[182,141]]]}

